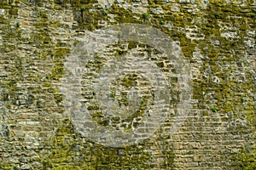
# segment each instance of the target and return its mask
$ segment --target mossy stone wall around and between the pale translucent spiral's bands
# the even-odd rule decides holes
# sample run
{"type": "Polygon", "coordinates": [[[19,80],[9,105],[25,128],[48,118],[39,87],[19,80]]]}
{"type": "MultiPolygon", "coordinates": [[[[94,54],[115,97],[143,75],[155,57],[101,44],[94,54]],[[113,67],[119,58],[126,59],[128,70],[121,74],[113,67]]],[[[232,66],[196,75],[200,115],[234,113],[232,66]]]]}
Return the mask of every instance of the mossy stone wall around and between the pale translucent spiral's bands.
{"type": "MultiPolygon", "coordinates": [[[[1,0],[0,169],[255,169],[255,22],[254,0],[1,0]],[[171,134],[183,93],[173,76],[176,61],[143,42],[117,42],[99,50],[85,63],[90,71],[82,81],[97,82],[103,94],[99,70],[127,54],[125,59],[134,63],[142,62],[140,56],[152,61],[171,87],[166,94],[170,110],[160,127],[137,144],[115,147],[79,133],[61,87],[68,56],[86,32],[121,23],[154,27],[172,38],[189,65],[193,96],[183,126],[171,134]]],[[[106,116],[117,109],[103,110],[109,99],[96,102],[100,94],[81,85],[79,102],[90,122],[131,132],[137,127],[136,118],[156,105],[150,80],[140,71],[127,70],[108,88],[109,98],[131,116],[106,116]],[[142,98],[129,109],[132,87],[142,98]]],[[[165,105],[154,114],[165,112],[161,108],[165,105]]]]}

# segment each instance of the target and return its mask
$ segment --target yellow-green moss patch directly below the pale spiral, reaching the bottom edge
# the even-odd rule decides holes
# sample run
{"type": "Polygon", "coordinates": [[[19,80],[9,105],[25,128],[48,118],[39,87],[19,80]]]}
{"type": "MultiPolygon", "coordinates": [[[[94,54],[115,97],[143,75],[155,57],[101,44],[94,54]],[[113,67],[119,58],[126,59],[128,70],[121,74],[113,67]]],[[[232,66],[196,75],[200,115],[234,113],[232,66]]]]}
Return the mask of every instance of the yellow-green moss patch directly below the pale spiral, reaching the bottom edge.
{"type": "MultiPolygon", "coordinates": [[[[55,136],[49,141],[51,153],[41,157],[44,169],[150,169],[151,156],[136,145],[109,148],[100,144],[83,142],[73,133],[67,119],[59,123],[55,136]]],[[[148,144],[145,144],[147,146],[148,144]]]]}

